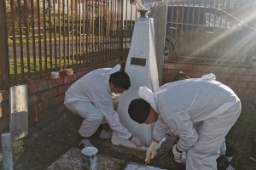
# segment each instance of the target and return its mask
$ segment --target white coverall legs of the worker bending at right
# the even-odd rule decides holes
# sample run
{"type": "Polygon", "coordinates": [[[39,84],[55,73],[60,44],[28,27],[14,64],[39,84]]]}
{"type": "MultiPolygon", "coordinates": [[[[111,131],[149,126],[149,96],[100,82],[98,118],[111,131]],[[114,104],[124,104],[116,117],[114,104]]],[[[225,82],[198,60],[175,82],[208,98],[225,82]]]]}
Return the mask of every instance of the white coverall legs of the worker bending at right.
{"type": "Polygon", "coordinates": [[[216,159],[226,134],[241,113],[241,103],[230,107],[219,116],[201,122],[197,143],[187,151],[186,170],[217,170],[216,159]]]}

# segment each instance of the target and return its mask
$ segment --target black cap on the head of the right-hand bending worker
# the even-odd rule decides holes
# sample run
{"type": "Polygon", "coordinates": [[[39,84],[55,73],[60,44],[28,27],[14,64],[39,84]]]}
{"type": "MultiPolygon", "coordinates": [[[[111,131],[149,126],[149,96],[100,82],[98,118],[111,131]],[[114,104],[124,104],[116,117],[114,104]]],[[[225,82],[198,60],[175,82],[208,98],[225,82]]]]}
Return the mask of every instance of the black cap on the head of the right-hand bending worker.
{"type": "Polygon", "coordinates": [[[150,104],[144,99],[133,99],[129,105],[128,113],[133,121],[141,124],[147,120],[150,108],[150,104]]]}

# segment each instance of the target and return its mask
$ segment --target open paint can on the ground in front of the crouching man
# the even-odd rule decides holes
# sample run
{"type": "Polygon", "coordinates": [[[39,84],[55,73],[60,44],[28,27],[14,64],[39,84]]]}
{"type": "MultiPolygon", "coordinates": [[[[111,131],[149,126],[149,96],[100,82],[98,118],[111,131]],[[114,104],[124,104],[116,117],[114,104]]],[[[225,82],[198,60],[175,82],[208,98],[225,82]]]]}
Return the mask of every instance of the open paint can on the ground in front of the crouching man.
{"type": "Polygon", "coordinates": [[[97,156],[98,149],[93,146],[85,147],[81,150],[82,153],[82,169],[83,170],[96,170],[97,169],[97,156]]]}

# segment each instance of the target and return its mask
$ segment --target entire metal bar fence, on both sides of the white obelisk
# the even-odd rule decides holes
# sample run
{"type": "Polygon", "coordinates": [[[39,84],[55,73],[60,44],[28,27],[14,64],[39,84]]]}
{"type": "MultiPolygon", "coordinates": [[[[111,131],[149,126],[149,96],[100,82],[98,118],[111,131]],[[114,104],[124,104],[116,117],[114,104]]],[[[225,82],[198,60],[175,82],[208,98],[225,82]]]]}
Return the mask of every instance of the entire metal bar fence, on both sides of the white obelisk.
{"type": "MultiPolygon", "coordinates": [[[[167,62],[256,62],[255,0],[167,3],[167,62]]],[[[136,18],[129,0],[0,1],[0,87],[125,59],[136,18]]]]}

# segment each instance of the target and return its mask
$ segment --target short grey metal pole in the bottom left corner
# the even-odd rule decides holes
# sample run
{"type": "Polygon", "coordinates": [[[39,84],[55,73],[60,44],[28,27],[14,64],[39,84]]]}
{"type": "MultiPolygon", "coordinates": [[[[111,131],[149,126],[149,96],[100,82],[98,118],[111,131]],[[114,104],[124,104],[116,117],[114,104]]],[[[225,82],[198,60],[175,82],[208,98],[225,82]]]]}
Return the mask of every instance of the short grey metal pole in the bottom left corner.
{"type": "Polygon", "coordinates": [[[2,150],[3,150],[3,170],[13,170],[13,152],[12,152],[12,135],[11,133],[1,134],[2,150]]]}

